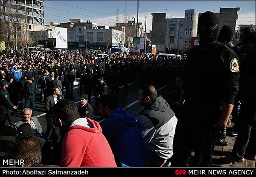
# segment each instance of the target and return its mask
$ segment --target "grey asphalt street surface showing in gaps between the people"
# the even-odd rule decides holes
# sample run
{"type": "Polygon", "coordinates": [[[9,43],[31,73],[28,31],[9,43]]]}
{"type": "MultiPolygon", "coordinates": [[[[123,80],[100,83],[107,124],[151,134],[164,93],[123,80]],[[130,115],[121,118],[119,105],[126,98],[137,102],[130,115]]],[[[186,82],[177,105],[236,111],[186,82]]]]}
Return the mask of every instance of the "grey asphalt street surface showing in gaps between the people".
{"type": "MultiPolygon", "coordinates": [[[[123,86],[119,86],[119,93],[116,95],[119,101],[119,106],[126,110],[127,112],[130,112],[133,115],[137,115],[143,107],[140,106],[140,104],[137,101],[137,93],[139,88],[143,85],[143,83],[139,82],[131,82],[128,84],[128,92],[125,92],[125,89],[123,86]]],[[[168,91],[168,85],[167,84],[155,84],[155,87],[157,88],[157,93],[158,95],[167,92],[168,91]]],[[[65,91],[64,91],[64,96],[65,96],[65,91]]],[[[81,96],[80,93],[80,85],[74,86],[73,90],[73,96],[75,97],[73,101],[76,102],[77,105],[80,104],[80,100],[78,97],[81,96]]],[[[66,97],[65,97],[66,98],[66,97]]],[[[96,105],[96,101],[94,98],[94,94],[92,91],[92,107],[94,110],[94,115],[97,120],[101,120],[101,117],[99,116],[98,113],[98,105],[96,105]]],[[[38,117],[39,122],[41,123],[41,126],[43,127],[43,132],[42,135],[44,137],[46,129],[47,129],[47,122],[45,118],[45,103],[41,101],[40,99],[40,90],[37,90],[36,97],[35,97],[35,112],[34,115],[38,117]]],[[[11,111],[12,114],[12,121],[15,123],[17,121],[20,121],[22,118],[22,113],[21,110],[19,111],[11,111]]],[[[6,121],[6,126],[4,127],[4,133],[1,134],[1,159],[5,156],[6,154],[6,145],[15,139],[14,137],[14,129],[9,127],[8,121],[6,121]]]]}

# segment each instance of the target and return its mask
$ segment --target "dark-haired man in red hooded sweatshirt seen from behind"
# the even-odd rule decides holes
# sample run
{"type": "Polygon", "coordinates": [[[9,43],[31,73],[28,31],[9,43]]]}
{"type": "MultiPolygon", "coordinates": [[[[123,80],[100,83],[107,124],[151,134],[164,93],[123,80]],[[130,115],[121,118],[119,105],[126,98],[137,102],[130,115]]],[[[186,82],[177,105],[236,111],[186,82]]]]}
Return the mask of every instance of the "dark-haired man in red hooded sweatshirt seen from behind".
{"type": "Polygon", "coordinates": [[[75,102],[59,101],[55,121],[62,140],[61,167],[116,167],[108,141],[98,122],[80,118],[75,102]]]}

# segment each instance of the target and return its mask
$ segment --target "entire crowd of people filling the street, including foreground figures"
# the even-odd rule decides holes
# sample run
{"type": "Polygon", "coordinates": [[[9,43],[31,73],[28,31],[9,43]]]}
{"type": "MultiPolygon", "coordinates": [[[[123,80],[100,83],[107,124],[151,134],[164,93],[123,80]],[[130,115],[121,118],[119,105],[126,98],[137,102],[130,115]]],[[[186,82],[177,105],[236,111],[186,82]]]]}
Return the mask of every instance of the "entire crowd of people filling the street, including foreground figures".
{"type": "Polygon", "coordinates": [[[214,146],[226,138],[233,115],[237,117],[233,128],[238,137],[223,160],[255,160],[255,31],[244,28],[241,43],[229,45],[233,36],[230,27],[225,25],[218,34],[218,17],[206,11],[198,19],[198,34],[199,45],[181,59],[122,53],[95,59],[96,53],[78,50],[32,57],[1,54],[1,129],[7,119],[15,127],[17,138],[9,145],[6,158],[23,158],[25,166],[210,167],[214,146]],[[76,78],[80,78],[83,93],[79,107],[72,101],[76,78]],[[120,82],[128,91],[127,81],[131,78],[151,83],[176,79],[180,93],[176,107],[157,95],[154,84],[144,84],[138,88],[137,99],[144,107],[139,115],[122,110],[115,94],[120,82]],[[45,138],[33,116],[39,86],[47,110],[45,138]],[[100,123],[93,119],[92,91],[99,114],[105,118],[100,123]],[[13,124],[10,109],[17,109],[18,102],[23,119],[13,124]],[[24,130],[24,124],[29,128],[24,130]],[[22,141],[41,145],[41,154],[23,147],[23,153],[38,159],[34,164],[15,150],[22,141]]]}

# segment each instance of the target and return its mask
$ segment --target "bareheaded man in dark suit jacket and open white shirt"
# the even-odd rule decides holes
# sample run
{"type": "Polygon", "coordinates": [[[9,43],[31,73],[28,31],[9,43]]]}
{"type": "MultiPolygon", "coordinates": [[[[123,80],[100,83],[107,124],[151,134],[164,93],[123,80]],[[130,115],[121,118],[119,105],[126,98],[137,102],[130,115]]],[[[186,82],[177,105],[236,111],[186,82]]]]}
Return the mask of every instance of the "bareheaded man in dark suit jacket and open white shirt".
{"type": "Polygon", "coordinates": [[[54,87],[52,89],[52,95],[47,96],[45,100],[45,109],[46,109],[46,115],[45,118],[47,120],[47,129],[45,133],[45,138],[50,138],[52,131],[54,130],[54,124],[53,124],[53,107],[55,104],[57,104],[57,97],[61,94],[59,88],[54,87]]]}

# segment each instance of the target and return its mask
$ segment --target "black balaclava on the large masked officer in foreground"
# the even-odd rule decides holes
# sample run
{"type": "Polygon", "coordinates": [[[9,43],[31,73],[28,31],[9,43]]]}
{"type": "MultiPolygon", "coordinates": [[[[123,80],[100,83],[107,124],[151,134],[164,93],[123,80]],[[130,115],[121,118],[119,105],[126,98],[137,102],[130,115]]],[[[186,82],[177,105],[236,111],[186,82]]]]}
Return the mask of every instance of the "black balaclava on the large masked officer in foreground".
{"type": "Polygon", "coordinates": [[[207,45],[216,40],[218,35],[218,17],[211,11],[206,11],[198,19],[199,44],[207,45]]]}

